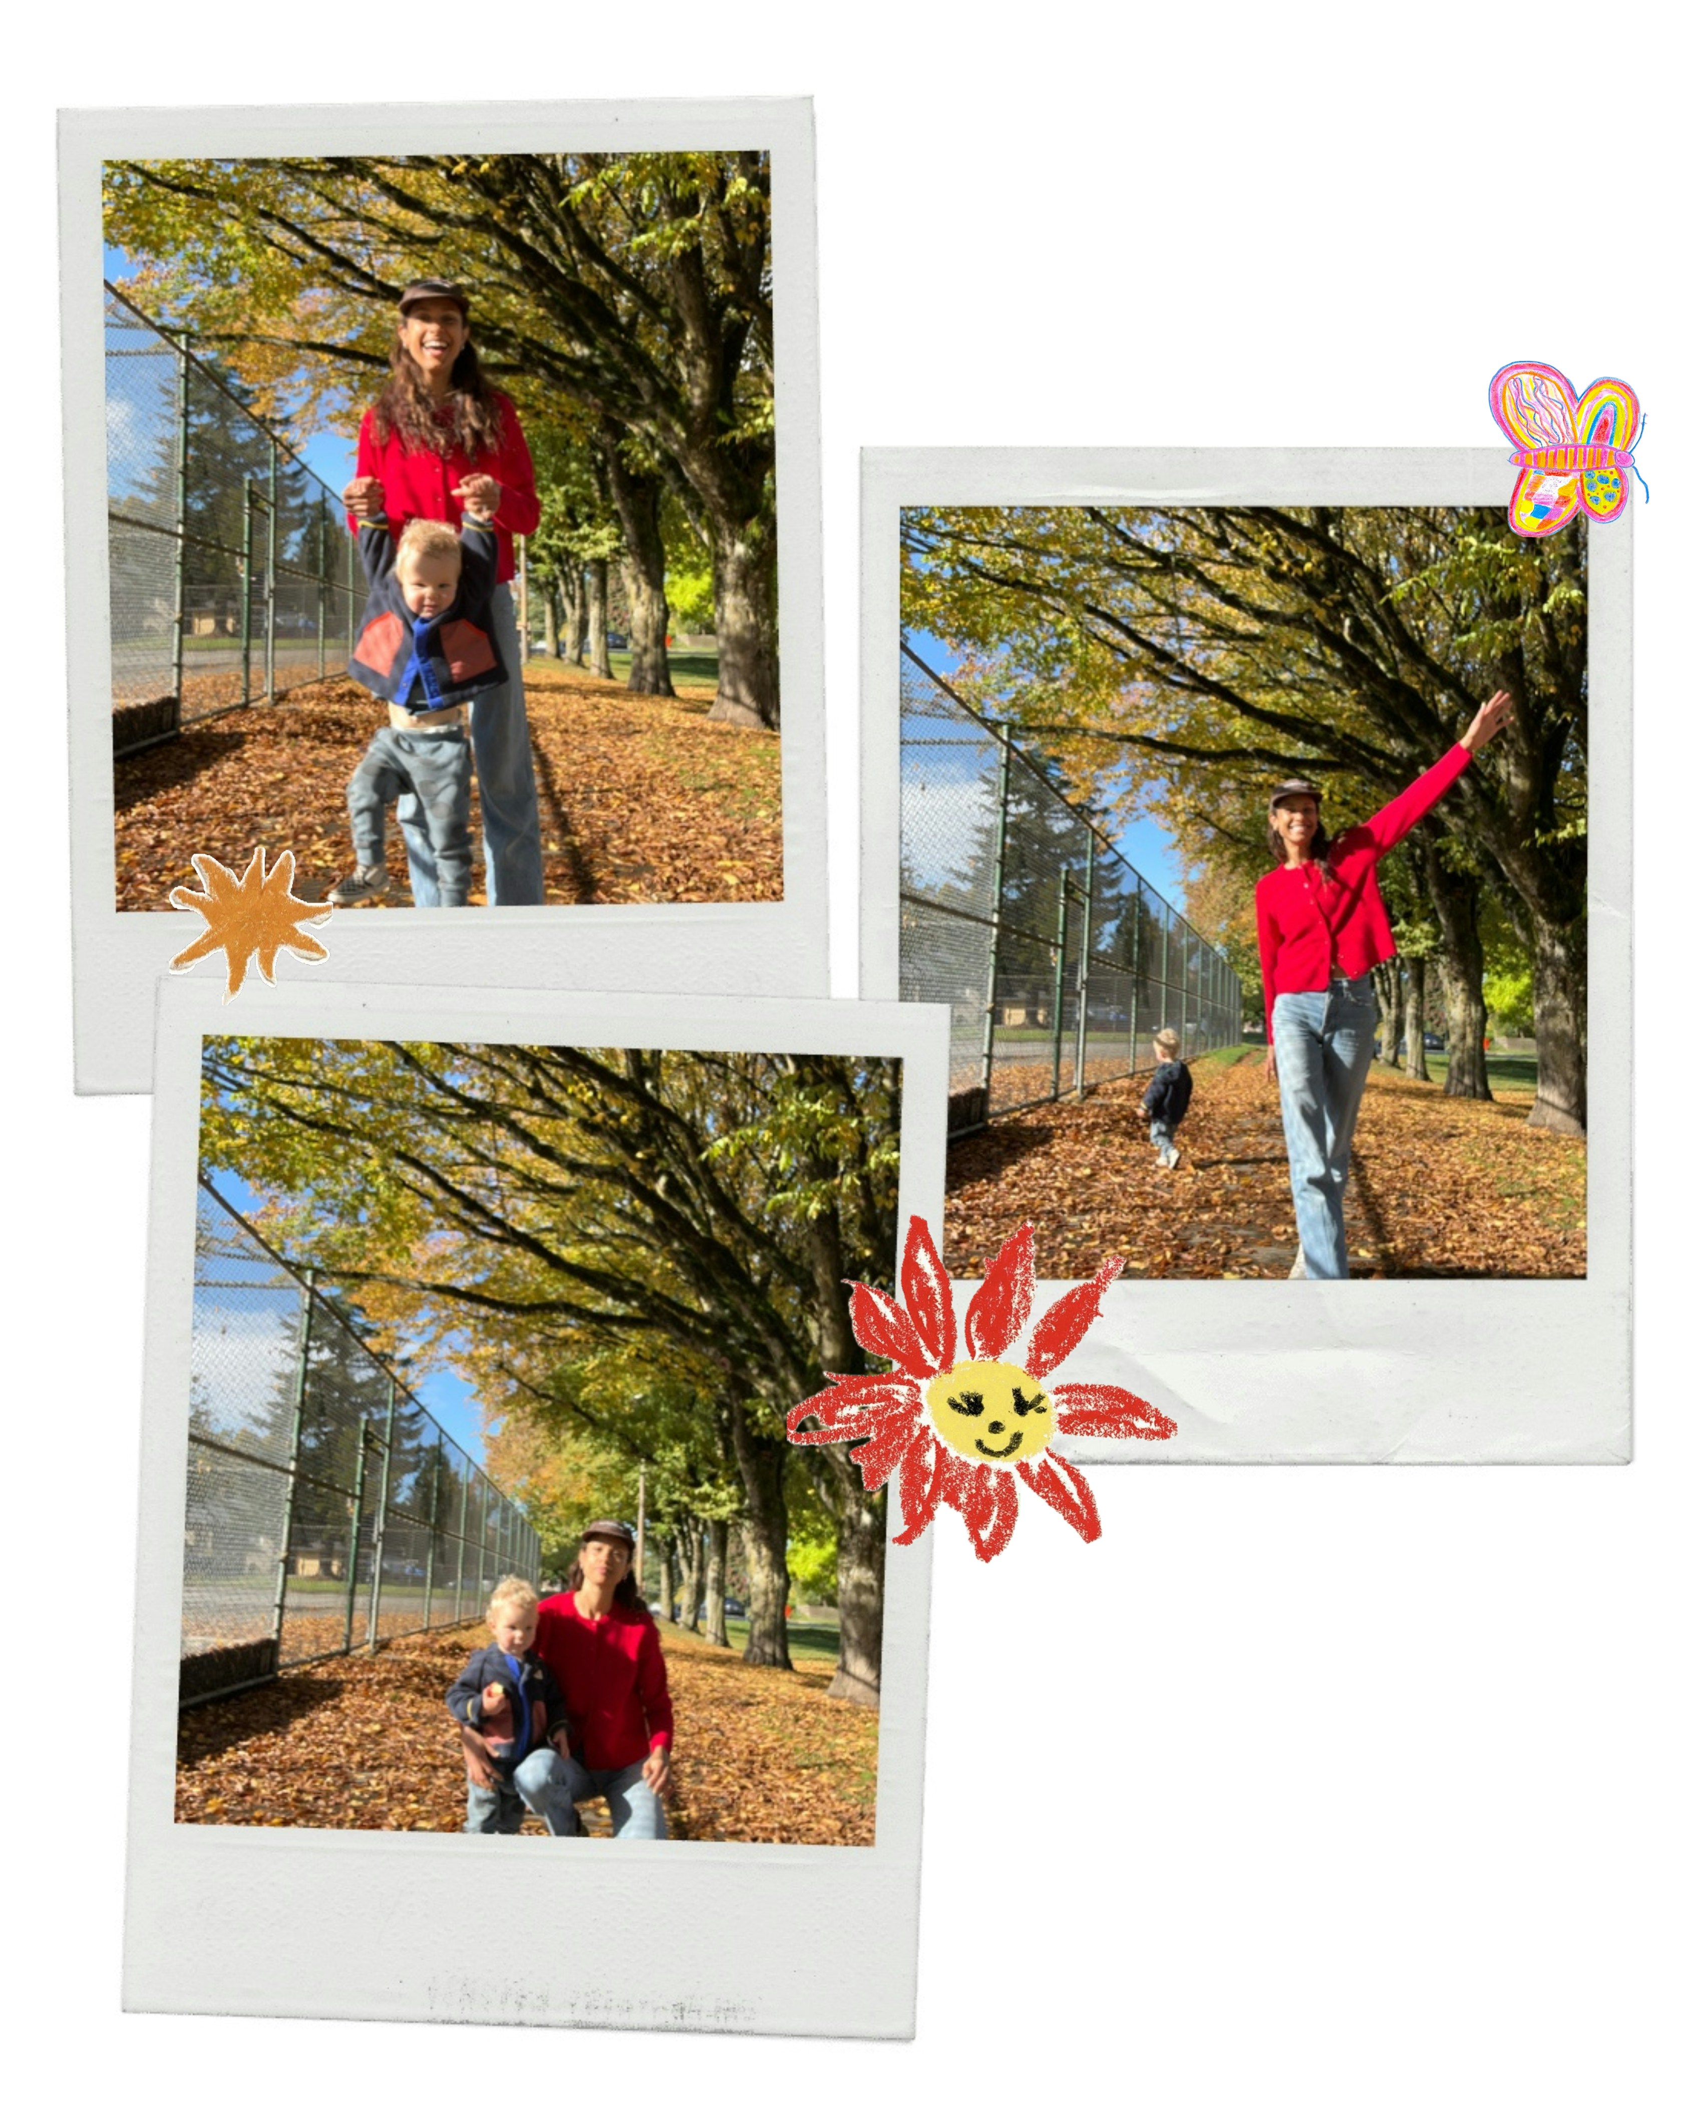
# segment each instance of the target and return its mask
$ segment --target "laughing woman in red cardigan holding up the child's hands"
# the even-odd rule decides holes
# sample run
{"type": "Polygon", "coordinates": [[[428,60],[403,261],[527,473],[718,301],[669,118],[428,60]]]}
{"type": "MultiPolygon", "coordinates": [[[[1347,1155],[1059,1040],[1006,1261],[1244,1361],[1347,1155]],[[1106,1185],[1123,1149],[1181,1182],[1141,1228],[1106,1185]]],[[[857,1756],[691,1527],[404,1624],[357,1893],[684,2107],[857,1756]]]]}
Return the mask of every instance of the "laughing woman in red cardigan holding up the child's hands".
{"type": "MultiPolygon", "coordinates": [[[[471,501],[492,515],[499,585],[490,612],[505,680],[469,705],[469,741],[482,792],[488,904],[537,904],[545,900],[541,813],[509,587],[515,577],[511,539],[532,534],[541,524],[534,465],[515,406],[482,374],[469,342],[469,296],[463,287],[442,279],[418,279],[406,287],[389,365],[393,374],[359,427],[346,511],[353,532],[361,522],[387,520],[395,536],[408,520],[456,528],[471,501]]],[[[397,813],[412,902],[435,908],[439,876],[414,794],[401,796],[397,813]]]]}

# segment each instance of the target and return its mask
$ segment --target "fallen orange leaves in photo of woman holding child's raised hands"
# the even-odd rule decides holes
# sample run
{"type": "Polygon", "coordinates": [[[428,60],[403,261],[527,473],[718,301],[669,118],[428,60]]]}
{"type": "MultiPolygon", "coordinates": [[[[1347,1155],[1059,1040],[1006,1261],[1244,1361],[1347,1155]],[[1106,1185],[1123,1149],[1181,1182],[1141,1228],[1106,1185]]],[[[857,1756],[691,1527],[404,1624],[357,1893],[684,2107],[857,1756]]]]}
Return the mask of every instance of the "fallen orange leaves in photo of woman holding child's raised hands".
{"type": "MultiPolygon", "coordinates": [[[[234,678],[239,680],[239,678],[234,678]]],[[[712,693],[636,697],[545,661],[524,670],[547,902],[777,902],[780,735],[718,727],[712,693]]],[[[321,900],[351,870],[346,779],[384,718],[346,678],[190,724],[116,762],[120,910],[169,908],[209,851],[234,870],[256,845],[294,851],[296,891],[321,900]]],[[[486,902],[480,800],[471,902],[486,902]]],[[[389,813],[389,904],[408,906],[389,813]]]]}

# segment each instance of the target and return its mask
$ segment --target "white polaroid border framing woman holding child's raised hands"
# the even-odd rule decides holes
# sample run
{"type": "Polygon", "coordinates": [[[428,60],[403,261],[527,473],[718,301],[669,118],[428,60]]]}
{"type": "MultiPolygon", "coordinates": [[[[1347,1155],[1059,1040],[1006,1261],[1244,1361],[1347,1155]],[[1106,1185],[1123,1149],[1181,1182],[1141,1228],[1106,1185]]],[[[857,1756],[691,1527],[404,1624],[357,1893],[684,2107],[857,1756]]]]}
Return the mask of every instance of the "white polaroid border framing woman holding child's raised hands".
{"type": "MultiPolygon", "coordinates": [[[[325,936],[344,980],[826,997],[826,748],[815,306],[807,99],[346,103],[70,110],[59,118],[76,1090],[148,1092],[152,984],[192,910],[118,910],[112,769],[101,163],[116,156],[769,148],[780,477],[782,902],[382,910],[325,936]]],[[[285,845],[270,845],[270,851],[285,845]]],[[[192,874],[184,874],[192,883],[192,874]]],[[[294,974],[283,957],[279,974],[294,974]]]]}

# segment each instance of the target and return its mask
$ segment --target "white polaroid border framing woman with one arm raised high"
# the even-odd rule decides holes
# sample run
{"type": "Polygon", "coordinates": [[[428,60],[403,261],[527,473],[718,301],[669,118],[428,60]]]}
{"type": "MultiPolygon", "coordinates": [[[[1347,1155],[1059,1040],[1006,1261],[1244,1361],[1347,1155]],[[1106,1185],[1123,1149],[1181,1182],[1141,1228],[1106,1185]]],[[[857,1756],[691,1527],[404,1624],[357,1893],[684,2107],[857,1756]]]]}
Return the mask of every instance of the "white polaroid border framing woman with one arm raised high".
{"type": "MultiPolygon", "coordinates": [[[[862,458],[862,995],[898,995],[898,513],[913,505],[1506,505],[1506,448],[908,448],[862,458]]],[[[1115,1284],[1086,1379],[1179,1421],[1130,1462],[1631,1457],[1631,517],[1591,568],[1589,1276],[1115,1284]]],[[[1075,1369],[1075,1377],[1082,1373],[1075,1369]]]]}

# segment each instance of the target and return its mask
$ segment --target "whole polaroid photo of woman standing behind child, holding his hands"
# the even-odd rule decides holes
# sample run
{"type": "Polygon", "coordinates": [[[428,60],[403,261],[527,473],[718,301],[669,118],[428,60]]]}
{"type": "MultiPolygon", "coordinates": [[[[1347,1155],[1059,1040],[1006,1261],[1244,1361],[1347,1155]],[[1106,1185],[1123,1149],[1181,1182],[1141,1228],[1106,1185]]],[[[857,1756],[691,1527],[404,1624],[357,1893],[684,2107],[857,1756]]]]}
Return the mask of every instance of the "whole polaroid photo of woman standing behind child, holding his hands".
{"type": "Polygon", "coordinates": [[[826,995],[813,192],[805,99],[61,116],[80,1092],[194,855],[344,980],[826,995]]]}

